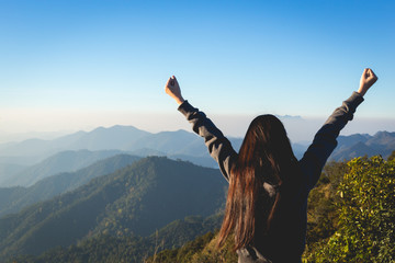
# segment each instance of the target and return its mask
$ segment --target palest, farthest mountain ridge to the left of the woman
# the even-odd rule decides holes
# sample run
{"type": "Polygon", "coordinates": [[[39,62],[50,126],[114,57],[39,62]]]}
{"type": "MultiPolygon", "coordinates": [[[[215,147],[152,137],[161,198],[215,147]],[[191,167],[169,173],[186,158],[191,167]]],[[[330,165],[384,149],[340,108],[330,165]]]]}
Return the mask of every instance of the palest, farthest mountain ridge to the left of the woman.
{"type": "MultiPolygon", "coordinates": [[[[78,132],[53,140],[29,139],[0,145],[2,160],[15,157],[47,158],[66,150],[155,150],[167,155],[191,155],[202,152],[204,145],[185,130],[151,134],[133,126],[99,127],[92,132],[78,132]]],[[[1,159],[0,159],[1,160],[1,159]]],[[[14,160],[14,162],[18,160],[14,160]]],[[[4,161],[2,161],[4,162],[4,161]]],[[[21,161],[22,162],[22,161],[21,161]]],[[[21,163],[19,163],[21,164],[21,163]]]]}

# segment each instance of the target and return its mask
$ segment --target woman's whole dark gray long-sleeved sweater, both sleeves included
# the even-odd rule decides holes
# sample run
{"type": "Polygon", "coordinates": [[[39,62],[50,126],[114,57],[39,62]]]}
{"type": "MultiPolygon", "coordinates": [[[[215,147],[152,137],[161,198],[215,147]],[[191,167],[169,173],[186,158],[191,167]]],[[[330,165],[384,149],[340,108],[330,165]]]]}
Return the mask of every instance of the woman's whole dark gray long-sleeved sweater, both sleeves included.
{"type": "MultiPolygon", "coordinates": [[[[271,231],[261,237],[259,248],[248,247],[238,251],[239,262],[301,262],[305,248],[308,193],[336,148],[340,130],[353,118],[353,113],[362,101],[363,98],[353,92],[317,132],[298,161],[298,171],[295,171],[298,183],[292,191],[294,196],[287,201],[275,222],[272,222],[271,231]]],[[[238,157],[230,141],[203,112],[188,101],[179,106],[179,111],[192,124],[192,129],[204,138],[210,155],[217,161],[221,172],[228,181],[230,169],[238,157]]]]}

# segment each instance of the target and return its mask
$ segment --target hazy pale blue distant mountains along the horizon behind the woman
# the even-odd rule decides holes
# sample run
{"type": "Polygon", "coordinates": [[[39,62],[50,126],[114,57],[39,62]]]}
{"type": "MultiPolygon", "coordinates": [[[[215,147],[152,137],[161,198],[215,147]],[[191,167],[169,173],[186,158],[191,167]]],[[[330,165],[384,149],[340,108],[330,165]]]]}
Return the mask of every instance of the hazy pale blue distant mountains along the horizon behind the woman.
{"type": "MultiPolygon", "coordinates": [[[[242,139],[229,138],[237,150],[242,139]]],[[[349,160],[358,156],[390,156],[395,149],[395,133],[339,136],[332,160],[349,160]]],[[[301,158],[307,145],[293,144],[301,158]]],[[[41,179],[74,172],[94,161],[119,153],[167,156],[204,167],[216,167],[207,155],[202,138],[185,130],[151,134],[133,126],[99,127],[78,132],[53,140],[29,139],[0,145],[0,186],[31,186],[41,179]],[[65,151],[65,152],[63,152],[65,151]]]]}

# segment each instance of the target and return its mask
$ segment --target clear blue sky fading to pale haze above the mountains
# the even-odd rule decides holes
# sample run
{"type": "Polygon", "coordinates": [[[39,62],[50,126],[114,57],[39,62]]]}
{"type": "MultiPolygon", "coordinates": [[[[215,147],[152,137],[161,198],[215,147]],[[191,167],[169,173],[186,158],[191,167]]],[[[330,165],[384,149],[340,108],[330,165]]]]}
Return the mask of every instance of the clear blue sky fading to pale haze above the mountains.
{"type": "Polygon", "coordinates": [[[325,121],[365,67],[379,82],[356,130],[393,132],[394,13],[392,0],[0,0],[0,135],[188,129],[171,75],[225,134],[261,113],[325,121]]]}

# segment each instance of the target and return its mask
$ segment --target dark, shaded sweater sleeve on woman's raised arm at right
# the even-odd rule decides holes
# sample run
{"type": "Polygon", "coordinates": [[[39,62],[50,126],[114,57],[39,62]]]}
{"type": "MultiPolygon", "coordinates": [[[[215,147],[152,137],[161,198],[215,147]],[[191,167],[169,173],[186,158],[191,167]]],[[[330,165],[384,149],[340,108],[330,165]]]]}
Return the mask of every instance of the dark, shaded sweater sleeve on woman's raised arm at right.
{"type": "Polygon", "coordinates": [[[327,159],[337,146],[336,139],[340,130],[349,121],[352,121],[358,105],[362,102],[363,98],[353,92],[348,100],[343,101],[341,106],[335,110],[315,135],[313,144],[300,161],[303,174],[307,176],[307,191],[311,191],[317,183],[327,159]]]}

